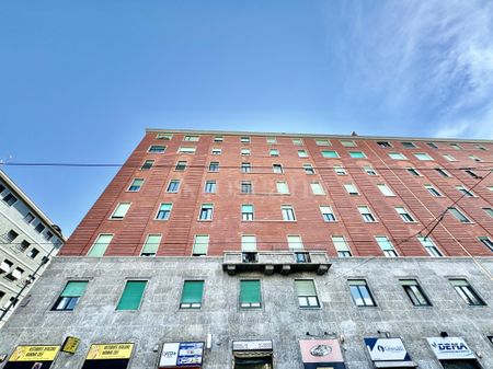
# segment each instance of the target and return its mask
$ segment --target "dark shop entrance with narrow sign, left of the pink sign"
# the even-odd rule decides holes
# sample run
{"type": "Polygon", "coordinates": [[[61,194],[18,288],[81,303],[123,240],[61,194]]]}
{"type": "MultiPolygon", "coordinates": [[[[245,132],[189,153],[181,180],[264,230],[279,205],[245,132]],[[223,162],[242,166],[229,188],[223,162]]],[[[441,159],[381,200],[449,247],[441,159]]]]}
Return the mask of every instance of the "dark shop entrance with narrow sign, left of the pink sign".
{"type": "Polygon", "coordinates": [[[272,341],[233,341],[233,369],[273,369],[272,341]]]}

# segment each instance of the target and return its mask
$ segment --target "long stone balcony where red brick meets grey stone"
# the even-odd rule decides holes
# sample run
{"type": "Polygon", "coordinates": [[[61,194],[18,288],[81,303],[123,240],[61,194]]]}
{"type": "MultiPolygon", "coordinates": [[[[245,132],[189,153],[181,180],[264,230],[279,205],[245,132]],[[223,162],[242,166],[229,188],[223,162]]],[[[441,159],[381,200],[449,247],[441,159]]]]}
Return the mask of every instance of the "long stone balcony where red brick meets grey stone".
{"type": "Polygon", "coordinates": [[[296,272],[325,274],[331,264],[323,251],[265,251],[265,252],[225,252],[222,270],[229,275],[248,272],[263,272],[266,275],[296,272]]]}

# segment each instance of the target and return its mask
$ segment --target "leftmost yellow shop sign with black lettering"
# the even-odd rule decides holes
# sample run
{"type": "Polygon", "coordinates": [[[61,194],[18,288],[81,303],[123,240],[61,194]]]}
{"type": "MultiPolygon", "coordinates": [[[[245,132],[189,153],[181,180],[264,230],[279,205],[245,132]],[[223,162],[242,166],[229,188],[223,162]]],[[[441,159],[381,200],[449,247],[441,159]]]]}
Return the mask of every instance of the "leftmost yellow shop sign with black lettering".
{"type": "Polygon", "coordinates": [[[5,369],[48,369],[60,350],[60,346],[18,346],[9,358],[5,369]]]}

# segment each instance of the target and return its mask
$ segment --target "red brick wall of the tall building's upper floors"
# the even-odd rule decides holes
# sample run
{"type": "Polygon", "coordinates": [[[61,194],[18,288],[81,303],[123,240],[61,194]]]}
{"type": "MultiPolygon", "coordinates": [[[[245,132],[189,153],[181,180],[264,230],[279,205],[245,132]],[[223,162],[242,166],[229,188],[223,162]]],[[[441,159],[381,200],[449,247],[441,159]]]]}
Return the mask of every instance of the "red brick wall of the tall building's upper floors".
{"type": "MultiPolygon", "coordinates": [[[[195,234],[209,234],[209,255],[221,255],[223,251],[241,250],[241,234],[255,234],[257,249],[286,250],[286,235],[299,234],[308,250],[326,250],[336,255],[331,235],[344,235],[355,256],[380,256],[380,247],[375,235],[389,237],[401,256],[426,256],[426,251],[416,240],[419,231],[431,223],[435,217],[450,206],[461,194],[457,185],[470,188],[480,180],[472,178],[461,168],[483,168],[480,175],[489,172],[493,162],[493,145],[482,143],[488,151],[461,142],[463,150],[456,150],[449,142],[436,142],[439,149],[429,148],[426,141],[414,141],[416,149],[405,149],[399,140],[391,140],[393,148],[382,149],[380,139],[358,139],[357,148],[345,148],[339,139],[330,138],[331,147],[316,145],[314,138],[303,137],[303,146],[295,146],[293,137],[277,137],[276,145],[266,143],[265,136],[251,136],[251,143],[240,143],[240,135],[223,134],[222,143],[214,142],[215,135],[200,135],[198,142],[183,141],[184,134],[175,132],[170,141],[156,140],[156,132],[147,132],[140,145],[131,153],[125,165],[107,186],[95,205],[62,247],[60,255],[85,255],[100,233],[114,233],[105,255],[139,255],[149,233],[161,233],[162,242],[158,255],[191,255],[195,234]],[[148,153],[151,145],[167,146],[165,153],[148,153]],[[195,146],[195,154],[177,154],[180,146],[195,146]],[[221,148],[220,155],[210,153],[213,148],[221,148]],[[241,157],[241,148],[250,148],[250,157],[241,157]],[[277,148],[280,155],[271,158],[270,148],[277,148]],[[298,158],[297,151],[305,149],[309,158],[298,158]],[[325,159],[321,150],[336,150],[340,159],[325,159]],[[367,159],[352,159],[348,151],[363,151],[367,159]],[[392,160],[388,152],[401,152],[408,160],[392,160]],[[413,153],[426,152],[434,161],[420,161],[413,153]],[[442,154],[449,153],[458,161],[448,162],[442,154]],[[483,162],[474,162],[468,155],[474,154],[483,162]],[[154,159],[154,166],[141,171],[146,159],[154,159]],[[177,160],[186,160],[184,172],[174,171],[177,160]],[[208,172],[210,161],[220,162],[218,173],[208,172]],[[241,173],[241,162],[252,163],[252,173],[241,173]],[[283,164],[284,174],[274,174],[272,164],[283,164]],[[311,163],[314,175],[307,175],[302,164],[311,163]],[[333,165],[342,164],[347,175],[336,175],[333,165]],[[364,165],[372,165],[379,175],[368,176],[364,165]],[[417,168],[423,176],[411,176],[404,169],[417,168]],[[448,170],[451,177],[442,177],[434,168],[448,170]],[[142,188],[129,193],[127,188],[135,177],[145,178],[142,188]],[[181,180],[177,194],[165,193],[170,180],[181,180]],[[217,193],[205,194],[206,180],[216,180],[217,193]],[[240,182],[251,181],[253,194],[240,193],[240,182]],[[290,194],[276,194],[276,181],[288,183],[290,194]],[[319,182],[325,196],[316,196],[310,183],[319,182]],[[348,195],[344,183],[353,183],[359,195],[348,195]],[[397,196],[385,197],[377,184],[385,183],[397,196]],[[424,184],[434,185],[444,197],[432,197],[424,184]],[[115,206],[121,201],[131,201],[131,207],[123,220],[110,220],[115,206]],[[167,221],[154,220],[160,203],[173,203],[171,217],[167,221]],[[197,221],[200,204],[214,203],[213,221],[197,221]],[[241,204],[253,204],[255,220],[241,221],[241,204]],[[297,221],[282,220],[280,206],[293,205],[297,221]],[[336,222],[324,222],[319,206],[330,205],[337,217],[336,222]],[[376,223],[364,223],[357,206],[366,205],[377,217],[376,223]],[[394,210],[404,206],[415,218],[415,223],[404,223],[394,210]]],[[[347,139],[347,138],[344,138],[347,139]]],[[[386,140],[386,139],[381,139],[386,140]]],[[[389,140],[387,140],[389,141],[389,140]]],[[[432,239],[448,256],[492,255],[492,252],[478,241],[478,237],[493,233],[493,218],[482,208],[493,207],[493,175],[482,181],[473,192],[478,197],[463,198],[457,207],[472,223],[463,224],[447,214],[433,231],[432,239]]]]}

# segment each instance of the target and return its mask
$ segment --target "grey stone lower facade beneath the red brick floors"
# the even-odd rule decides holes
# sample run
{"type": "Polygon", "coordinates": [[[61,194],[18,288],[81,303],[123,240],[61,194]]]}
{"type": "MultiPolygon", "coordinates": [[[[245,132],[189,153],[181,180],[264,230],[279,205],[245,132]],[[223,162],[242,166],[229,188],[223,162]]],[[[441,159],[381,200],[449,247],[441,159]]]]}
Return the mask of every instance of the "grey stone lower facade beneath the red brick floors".
{"type": "MultiPolygon", "coordinates": [[[[221,257],[55,257],[0,331],[0,354],[10,360],[19,345],[58,346],[73,336],[80,339],[74,354],[57,351],[50,366],[41,362],[30,369],[95,368],[87,360],[98,348],[91,345],[116,344],[127,345],[121,348],[128,356],[112,361],[110,354],[101,368],[156,369],[167,362],[164,351],[180,343],[191,351],[202,344],[202,366],[174,367],[330,368],[305,361],[303,345],[312,341],[334,343],[337,347],[331,349],[340,350],[345,368],[370,369],[390,362],[370,354],[369,343],[377,342],[372,338],[398,338],[387,343],[402,344],[408,364],[393,360],[393,368],[493,368],[491,257],[334,258],[322,275],[231,275],[222,264],[221,257]],[[242,305],[244,280],[260,286],[260,302],[248,308],[242,305]],[[83,291],[71,310],[54,311],[70,281],[82,282],[83,291]],[[145,281],[145,288],[137,308],[119,309],[128,281],[145,281]],[[202,281],[200,301],[193,308],[184,301],[187,281],[202,281]],[[311,292],[303,292],[300,281],[311,292]],[[419,291],[409,286],[419,286],[419,291]],[[424,303],[413,300],[413,293],[422,293],[424,303]],[[259,353],[270,356],[267,365],[242,364],[259,353]],[[440,364],[440,358],[459,364],[440,364]],[[471,360],[460,361],[466,358],[471,360]]],[[[326,346],[317,347],[323,351],[326,346]]],[[[0,368],[21,368],[7,360],[0,368]]],[[[339,365],[332,367],[343,368],[339,365]]]]}

